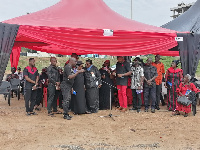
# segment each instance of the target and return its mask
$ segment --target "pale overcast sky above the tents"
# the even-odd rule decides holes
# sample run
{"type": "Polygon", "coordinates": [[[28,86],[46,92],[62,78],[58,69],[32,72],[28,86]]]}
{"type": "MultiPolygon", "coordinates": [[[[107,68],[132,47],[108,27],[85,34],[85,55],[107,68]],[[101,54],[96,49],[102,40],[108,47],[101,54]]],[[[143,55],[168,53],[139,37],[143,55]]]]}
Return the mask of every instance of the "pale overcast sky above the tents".
{"type": "MultiPolygon", "coordinates": [[[[0,0],[0,21],[11,19],[49,7],[59,0],[0,0]]],[[[78,0],[77,0],[78,1],[78,0]]],[[[104,0],[119,14],[131,18],[131,0],[104,0]]],[[[133,19],[142,23],[161,26],[172,20],[170,8],[178,3],[196,0],[132,0],[133,19]]]]}

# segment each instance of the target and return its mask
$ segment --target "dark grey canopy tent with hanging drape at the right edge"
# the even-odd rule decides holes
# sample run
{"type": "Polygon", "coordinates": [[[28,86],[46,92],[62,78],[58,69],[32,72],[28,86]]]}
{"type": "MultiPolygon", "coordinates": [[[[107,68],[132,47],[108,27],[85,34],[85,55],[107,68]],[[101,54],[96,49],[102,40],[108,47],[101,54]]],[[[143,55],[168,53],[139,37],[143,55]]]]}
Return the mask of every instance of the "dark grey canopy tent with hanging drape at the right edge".
{"type": "MultiPolygon", "coordinates": [[[[171,22],[163,25],[163,28],[176,30],[183,41],[178,42],[176,47],[180,51],[181,64],[184,74],[195,76],[200,59],[200,0],[184,14],[171,22]]],[[[165,52],[168,53],[168,52],[165,52]]]]}

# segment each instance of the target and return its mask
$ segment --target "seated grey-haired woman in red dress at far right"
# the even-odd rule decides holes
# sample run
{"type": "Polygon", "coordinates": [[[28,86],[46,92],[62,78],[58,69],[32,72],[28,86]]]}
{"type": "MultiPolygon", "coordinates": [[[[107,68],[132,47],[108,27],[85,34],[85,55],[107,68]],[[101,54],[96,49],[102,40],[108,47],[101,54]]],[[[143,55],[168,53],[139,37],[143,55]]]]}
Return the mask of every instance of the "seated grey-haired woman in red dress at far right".
{"type": "MultiPolygon", "coordinates": [[[[179,88],[176,89],[176,92],[179,96],[187,96],[187,91],[193,91],[195,93],[200,92],[199,89],[193,83],[190,83],[191,76],[189,74],[184,76],[183,83],[180,83],[179,88]]],[[[188,116],[188,113],[191,112],[191,104],[189,106],[182,105],[176,101],[176,110],[174,115],[180,115],[179,111],[185,112],[184,117],[188,116]]]]}

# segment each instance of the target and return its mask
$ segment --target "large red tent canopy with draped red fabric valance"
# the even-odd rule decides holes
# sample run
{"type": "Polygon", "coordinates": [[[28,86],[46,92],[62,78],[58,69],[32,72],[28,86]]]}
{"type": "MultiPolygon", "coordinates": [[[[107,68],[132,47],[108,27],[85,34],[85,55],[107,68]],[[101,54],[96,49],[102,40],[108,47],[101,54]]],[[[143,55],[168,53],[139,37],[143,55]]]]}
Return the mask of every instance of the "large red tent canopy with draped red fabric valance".
{"type": "Polygon", "coordinates": [[[21,25],[15,47],[54,54],[132,56],[158,54],[177,45],[176,31],[122,17],[102,0],[61,0],[4,22],[21,25]],[[113,36],[104,36],[103,29],[113,30],[113,36]]]}

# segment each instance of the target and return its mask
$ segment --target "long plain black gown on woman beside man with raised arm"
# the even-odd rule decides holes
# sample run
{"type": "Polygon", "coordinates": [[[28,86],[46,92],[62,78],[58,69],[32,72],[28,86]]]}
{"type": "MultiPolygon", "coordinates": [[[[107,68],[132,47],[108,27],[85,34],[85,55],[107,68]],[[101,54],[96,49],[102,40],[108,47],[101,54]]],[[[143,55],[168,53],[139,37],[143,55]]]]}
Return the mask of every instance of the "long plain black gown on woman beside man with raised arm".
{"type": "Polygon", "coordinates": [[[85,99],[85,88],[84,88],[84,75],[80,73],[76,76],[73,85],[76,95],[72,95],[73,112],[75,114],[83,114],[86,112],[86,99],[85,99]]]}

